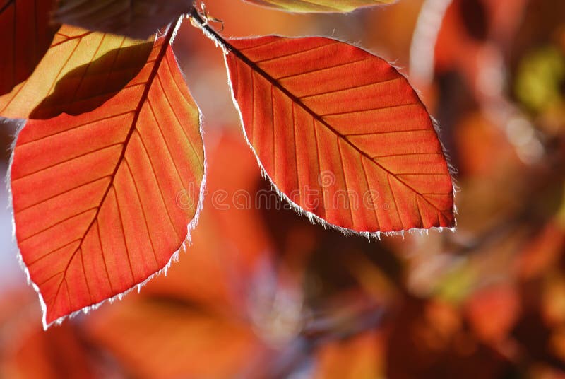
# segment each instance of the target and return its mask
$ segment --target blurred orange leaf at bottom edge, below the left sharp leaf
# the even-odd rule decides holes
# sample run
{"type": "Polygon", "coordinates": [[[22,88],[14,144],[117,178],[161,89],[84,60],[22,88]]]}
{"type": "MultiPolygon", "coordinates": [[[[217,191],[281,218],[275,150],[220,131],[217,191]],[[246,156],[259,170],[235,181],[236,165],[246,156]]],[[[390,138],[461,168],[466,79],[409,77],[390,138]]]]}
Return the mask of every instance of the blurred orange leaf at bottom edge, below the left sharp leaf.
{"type": "Polygon", "coordinates": [[[263,347],[239,317],[166,298],[129,298],[101,315],[90,319],[89,334],[135,378],[237,378],[263,347]]]}

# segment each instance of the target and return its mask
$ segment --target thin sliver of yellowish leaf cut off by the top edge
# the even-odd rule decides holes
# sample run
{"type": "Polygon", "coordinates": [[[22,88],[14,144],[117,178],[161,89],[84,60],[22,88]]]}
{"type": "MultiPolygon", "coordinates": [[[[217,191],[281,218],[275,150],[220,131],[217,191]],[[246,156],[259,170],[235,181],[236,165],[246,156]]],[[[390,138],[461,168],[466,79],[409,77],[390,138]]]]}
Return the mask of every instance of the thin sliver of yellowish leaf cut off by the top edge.
{"type": "Polygon", "coordinates": [[[350,12],[364,6],[391,4],[396,0],[245,0],[287,12],[335,13],[350,12]]]}

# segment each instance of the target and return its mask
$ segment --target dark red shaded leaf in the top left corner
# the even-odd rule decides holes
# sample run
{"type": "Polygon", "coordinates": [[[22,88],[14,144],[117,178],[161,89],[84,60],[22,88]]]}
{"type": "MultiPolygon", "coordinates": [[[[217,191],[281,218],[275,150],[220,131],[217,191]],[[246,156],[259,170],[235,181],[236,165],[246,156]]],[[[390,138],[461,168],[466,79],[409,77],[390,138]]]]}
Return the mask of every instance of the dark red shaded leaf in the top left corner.
{"type": "Polygon", "coordinates": [[[0,95],[25,81],[47,52],[55,30],[52,1],[0,1],[0,95]]]}

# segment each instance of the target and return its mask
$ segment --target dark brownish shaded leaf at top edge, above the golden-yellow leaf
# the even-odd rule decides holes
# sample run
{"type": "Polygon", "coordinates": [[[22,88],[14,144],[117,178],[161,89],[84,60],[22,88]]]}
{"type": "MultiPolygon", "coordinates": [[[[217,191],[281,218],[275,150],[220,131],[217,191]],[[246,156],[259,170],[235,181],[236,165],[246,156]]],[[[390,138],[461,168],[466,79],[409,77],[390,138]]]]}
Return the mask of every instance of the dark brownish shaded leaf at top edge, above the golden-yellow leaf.
{"type": "Polygon", "coordinates": [[[145,39],[190,10],[188,0],[59,0],[55,21],[145,39]]]}

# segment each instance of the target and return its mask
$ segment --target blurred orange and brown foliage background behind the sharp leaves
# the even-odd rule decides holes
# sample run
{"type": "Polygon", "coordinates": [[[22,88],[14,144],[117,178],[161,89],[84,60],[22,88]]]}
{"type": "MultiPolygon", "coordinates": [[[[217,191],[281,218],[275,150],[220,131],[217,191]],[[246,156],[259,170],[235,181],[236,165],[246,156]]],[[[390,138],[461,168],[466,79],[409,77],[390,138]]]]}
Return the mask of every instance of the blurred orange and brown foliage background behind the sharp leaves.
{"type": "MultiPolygon", "coordinates": [[[[0,192],[0,378],[565,378],[565,1],[206,6],[225,36],[328,35],[407,74],[458,170],[456,232],[369,241],[282,204],[230,204],[270,186],[221,51],[185,22],[174,50],[225,206],[206,198],[167,276],[43,332],[0,192]]],[[[0,129],[3,173],[14,128],[0,129]]]]}

